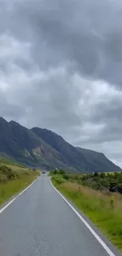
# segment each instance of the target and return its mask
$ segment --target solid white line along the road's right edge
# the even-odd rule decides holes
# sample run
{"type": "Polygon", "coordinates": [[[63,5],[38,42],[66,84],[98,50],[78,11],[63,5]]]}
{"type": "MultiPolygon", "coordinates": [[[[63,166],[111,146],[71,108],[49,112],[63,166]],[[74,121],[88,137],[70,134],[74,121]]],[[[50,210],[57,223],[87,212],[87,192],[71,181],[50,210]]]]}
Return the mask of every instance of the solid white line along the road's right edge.
{"type": "MultiPolygon", "coordinates": [[[[50,184],[52,185],[52,187],[54,187],[54,185],[52,184],[51,180],[50,180],[50,184]]],[[[55,187],[54,187],[54,190],[57,191],[57,189],[55,187]]],[[[107,247],[107,245],[102,241],[100,236],[98,236],[98,234],[96,232],[94,232],[94,229],[91,228],[90,224],[88,224],[87,221],[85,221],[83,219],[83,217],[77,212],[77,210],[68,202],[68,200],[59,191],[57,191],[57,193],[59,195],[61,195],[61,198],[63,198],[65,200],[65,202],[67,202],[68,206],[70,206],[70,208],[76,213],[76,215],[79,217],[79,219],[81,221],[83,221],[83,223],[87,226],[87,228],[90,230],[92,235],[98,240],[98,242],[102,245],[102,247],[109,254],[109,256],[116,256],[115,254],[113,254],[112,250],[110,250],[109,247],[107,247]]]]}

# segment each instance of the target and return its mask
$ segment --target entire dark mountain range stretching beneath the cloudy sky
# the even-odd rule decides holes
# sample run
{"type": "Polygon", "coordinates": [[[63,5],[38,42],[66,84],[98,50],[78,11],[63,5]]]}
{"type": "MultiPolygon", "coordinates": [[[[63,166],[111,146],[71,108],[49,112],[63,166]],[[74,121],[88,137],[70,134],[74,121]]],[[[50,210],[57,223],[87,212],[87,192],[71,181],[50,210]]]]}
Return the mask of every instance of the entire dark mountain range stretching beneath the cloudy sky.
{"type": "Polygon", "coordinates": [[[60,135],[42,128],[25,128],[0,117],[0,155],[47,169],[62,168],[72,172],[119,171],[120,167],[92,150],[73,147],[60,135]]]}

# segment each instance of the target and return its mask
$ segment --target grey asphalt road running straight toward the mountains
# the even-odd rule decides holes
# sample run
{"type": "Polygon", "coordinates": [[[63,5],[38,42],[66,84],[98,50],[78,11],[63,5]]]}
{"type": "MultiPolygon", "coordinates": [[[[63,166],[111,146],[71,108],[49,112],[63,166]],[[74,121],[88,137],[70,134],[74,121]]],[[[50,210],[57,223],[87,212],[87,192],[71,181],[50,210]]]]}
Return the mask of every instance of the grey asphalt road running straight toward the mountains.
{"type": "Polygon", "coordinates": [[[0,256],[108,256],[42,175],[0,214],[0,256]]]}

